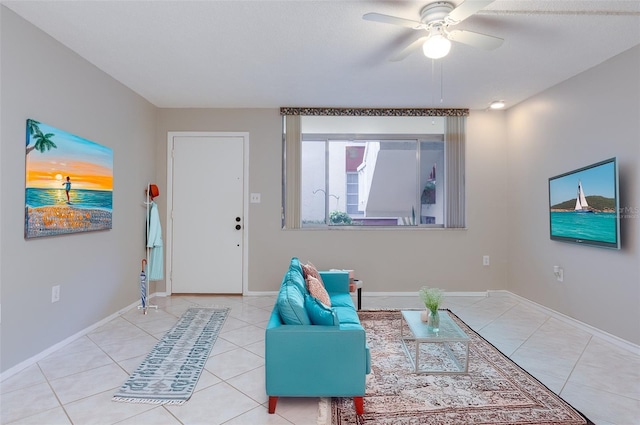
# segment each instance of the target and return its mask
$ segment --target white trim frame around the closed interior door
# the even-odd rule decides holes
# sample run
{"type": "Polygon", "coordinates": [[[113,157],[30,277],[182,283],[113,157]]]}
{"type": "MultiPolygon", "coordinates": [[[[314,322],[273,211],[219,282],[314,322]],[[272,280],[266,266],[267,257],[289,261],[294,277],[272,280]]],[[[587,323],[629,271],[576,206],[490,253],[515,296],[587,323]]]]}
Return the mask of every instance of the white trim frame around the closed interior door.
{"type": "Polygon", "coordinates": [[[173,138],[174,137],[241,137],[244,157],[242,158],[243,174],[243,197],[242,214],[244,215],[244,232],[242,234],[242,295],[245,295],[248,288],[248,255],[249,255],[249,203],[247,194],[249,193],[249,132],[221,132],[221,131],[169,131],[167,132],[167,233],[165,242],[165,259],[167,275],[165,279],[166,295],[173,293],[172,264],[173,264],[173,138]]]}

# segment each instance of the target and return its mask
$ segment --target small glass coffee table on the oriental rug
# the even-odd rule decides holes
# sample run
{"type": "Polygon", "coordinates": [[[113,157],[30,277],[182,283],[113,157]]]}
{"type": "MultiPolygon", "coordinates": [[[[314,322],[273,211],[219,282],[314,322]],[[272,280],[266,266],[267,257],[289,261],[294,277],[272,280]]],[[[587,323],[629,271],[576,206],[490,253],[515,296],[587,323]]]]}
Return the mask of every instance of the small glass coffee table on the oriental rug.
{"type": "Polygon", "coordinates": [[[469,336],[446,311],[440,310],[440,330],[432,332],[420,320],[420,311],[403,310],[400,341],[415,373],[469,372],[469,336]]]}

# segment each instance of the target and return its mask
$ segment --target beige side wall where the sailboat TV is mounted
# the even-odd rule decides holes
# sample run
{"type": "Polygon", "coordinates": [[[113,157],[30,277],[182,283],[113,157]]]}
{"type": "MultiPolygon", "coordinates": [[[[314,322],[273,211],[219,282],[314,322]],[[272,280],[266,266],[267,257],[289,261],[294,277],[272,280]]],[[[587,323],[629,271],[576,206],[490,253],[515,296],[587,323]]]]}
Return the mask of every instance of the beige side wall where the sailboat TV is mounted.
{"type": "Polygon", "coordinates": [[[640,343],[640,46],[509,110],[507,288],[640,343]],[[548,178],[618,158],[622,250],[549,239],[548,178]],[[564,268],[556,281],[553,266],[564,268]]]}

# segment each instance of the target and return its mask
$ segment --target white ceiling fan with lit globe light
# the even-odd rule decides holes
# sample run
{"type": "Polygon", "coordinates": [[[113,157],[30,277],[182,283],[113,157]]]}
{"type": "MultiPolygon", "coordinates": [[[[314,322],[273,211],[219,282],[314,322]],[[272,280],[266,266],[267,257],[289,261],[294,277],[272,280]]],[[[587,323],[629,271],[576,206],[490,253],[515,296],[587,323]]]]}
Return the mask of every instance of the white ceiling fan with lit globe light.
{"type": "Polygon", "coordinates": [[[484,50],[497,49],[504,41],[502,38],[467,30],[450,30],[494,0],[467,0],[455,7],[448,1],[429,3],[420,11],[420,21],[413,21],[380,13],[367,13],[362,19],[385,24],[400,25],[414,30],[425,30],[427,35],[415,40],[394,55],[391,61],[401,61],[414,50],[422,46],[425,56],[440,59],[451,49],[451,41],[477,47],[484,50]]]}

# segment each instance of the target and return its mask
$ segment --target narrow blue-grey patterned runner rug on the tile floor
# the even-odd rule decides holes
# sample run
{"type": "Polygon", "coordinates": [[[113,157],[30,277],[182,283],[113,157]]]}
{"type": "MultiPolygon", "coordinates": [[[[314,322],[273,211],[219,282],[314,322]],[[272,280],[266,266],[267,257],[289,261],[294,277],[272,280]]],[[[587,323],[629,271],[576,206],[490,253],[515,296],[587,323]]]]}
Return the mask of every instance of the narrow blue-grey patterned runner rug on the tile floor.
{"type": "Polygon", "coordinates": [[[229,308],[188,309],[113,400],[183,404],[191,397],[228,314],[229,308]]]}

